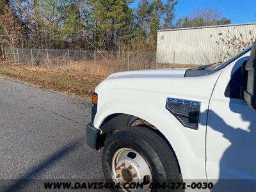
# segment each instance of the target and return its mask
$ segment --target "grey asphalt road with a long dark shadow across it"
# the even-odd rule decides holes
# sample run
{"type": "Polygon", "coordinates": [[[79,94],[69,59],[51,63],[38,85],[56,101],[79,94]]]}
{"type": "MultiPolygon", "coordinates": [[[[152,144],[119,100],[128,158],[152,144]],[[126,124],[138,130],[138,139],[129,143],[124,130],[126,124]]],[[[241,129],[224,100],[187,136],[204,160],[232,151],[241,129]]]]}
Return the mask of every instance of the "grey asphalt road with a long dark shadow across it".
{"type": "Polygon", "coordinates": [[[0,78],[0,106],[0,189],[103,178],[100,152],[86,145],[90,103],[0,78]]]}

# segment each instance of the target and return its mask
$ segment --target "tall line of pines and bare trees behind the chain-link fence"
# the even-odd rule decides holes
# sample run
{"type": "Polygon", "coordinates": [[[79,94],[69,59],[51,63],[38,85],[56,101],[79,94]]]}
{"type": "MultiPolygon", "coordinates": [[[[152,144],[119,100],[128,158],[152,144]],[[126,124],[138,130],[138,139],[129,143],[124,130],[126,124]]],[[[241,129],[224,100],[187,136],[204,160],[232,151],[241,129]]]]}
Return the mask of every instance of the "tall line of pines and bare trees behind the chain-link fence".
{"type": "Polygon", "coordinates": [[[155,51],[157,30],[229,24],[203,10],[173,24],[177,0],[0,0],[0,45],[155,51]]]}

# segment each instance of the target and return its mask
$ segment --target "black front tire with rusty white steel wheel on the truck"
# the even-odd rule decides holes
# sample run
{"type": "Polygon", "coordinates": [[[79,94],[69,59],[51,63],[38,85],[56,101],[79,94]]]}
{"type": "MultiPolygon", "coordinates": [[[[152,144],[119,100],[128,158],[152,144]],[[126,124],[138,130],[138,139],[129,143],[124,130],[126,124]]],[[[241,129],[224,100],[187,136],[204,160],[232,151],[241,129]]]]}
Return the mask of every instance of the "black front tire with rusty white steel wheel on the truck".
{"type": "Polygon", "coordinates": [[[143,126],[127,127],[109,136],[102,152],[102,168],[108,182],[143,182],[143,191],[150,191],[151,182],[182,182],[172,149],[156,132],[143,126]]]}

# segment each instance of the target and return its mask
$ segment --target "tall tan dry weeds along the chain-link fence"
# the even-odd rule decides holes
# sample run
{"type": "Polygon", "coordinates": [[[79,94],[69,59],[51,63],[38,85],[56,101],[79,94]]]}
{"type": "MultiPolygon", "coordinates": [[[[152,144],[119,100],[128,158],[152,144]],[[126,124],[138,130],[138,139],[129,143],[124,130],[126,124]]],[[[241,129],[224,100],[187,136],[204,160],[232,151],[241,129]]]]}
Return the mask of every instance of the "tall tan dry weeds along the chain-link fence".
{"type": "Polygon", "coordinates": [[[140,70],[145,68],[171,67],[157,65],[156,53],[71,51],[56,49],[6,49],[6,61],[58,68],[108,76],[113,72],[140,70]]]}

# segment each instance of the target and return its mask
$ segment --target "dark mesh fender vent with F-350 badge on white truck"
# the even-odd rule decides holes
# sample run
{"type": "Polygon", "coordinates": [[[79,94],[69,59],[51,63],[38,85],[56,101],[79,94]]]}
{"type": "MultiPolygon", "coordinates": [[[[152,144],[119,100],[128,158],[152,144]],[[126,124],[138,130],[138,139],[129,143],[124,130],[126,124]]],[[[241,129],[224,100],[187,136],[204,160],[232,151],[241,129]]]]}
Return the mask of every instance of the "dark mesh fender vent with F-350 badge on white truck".
{"type": "Polygon", "coordinates": [[[200,102],[193,100],[168,97],[166,100],[166,109],[168,109],[184,127],[198,129],[200,104],[200,102]]]}

